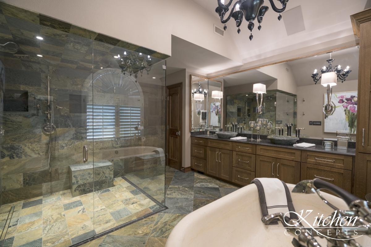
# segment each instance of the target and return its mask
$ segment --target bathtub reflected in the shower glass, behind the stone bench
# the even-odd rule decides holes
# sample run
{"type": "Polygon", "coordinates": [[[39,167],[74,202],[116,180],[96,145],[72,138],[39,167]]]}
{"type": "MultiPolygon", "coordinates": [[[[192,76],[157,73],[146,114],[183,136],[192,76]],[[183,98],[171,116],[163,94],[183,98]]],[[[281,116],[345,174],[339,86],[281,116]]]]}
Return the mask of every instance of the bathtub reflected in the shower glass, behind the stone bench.
{"type": "Polygon", "coordinates": [[[114,177],[165,165],[162,148],[138,146],[103,150],[102,158],[114,164],[114,177]]]}

